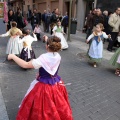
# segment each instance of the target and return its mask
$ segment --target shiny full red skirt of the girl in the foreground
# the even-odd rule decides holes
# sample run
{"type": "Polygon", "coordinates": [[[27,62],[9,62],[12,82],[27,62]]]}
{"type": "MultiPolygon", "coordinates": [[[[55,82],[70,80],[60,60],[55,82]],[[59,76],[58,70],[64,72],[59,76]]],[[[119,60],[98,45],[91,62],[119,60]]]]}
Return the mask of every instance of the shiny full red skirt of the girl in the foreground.
{"type": "Polygon", "coordinates": [[[23,100],[16,120],[73,120],[66,88],[38,82],[23,100]]]}

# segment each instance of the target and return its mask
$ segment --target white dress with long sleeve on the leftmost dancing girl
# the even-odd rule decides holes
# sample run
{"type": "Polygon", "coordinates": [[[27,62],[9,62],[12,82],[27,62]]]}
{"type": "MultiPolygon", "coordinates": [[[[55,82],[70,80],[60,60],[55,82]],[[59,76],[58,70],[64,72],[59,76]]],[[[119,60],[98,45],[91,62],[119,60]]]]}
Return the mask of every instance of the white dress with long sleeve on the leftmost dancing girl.
{"type": "MultiPolygon", "coordinates": [[[[5,34],[2,34],[1,37],[10,36],[10,32],[8,31],[5,34]]],[[[23,44],[19,44],[19,35],[18,36],[11,36],[7,43],[6,54],[15,54],[19,55],[22,51],[23,44]]]]}

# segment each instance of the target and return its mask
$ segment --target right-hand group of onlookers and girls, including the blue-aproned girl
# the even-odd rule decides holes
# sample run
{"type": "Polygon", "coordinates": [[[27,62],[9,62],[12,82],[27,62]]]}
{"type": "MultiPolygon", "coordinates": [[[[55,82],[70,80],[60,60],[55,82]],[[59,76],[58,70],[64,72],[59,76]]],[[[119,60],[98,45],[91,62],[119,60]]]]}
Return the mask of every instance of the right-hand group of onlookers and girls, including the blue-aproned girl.
{"type": "Polygon", "coordinates": [[[115,74],[120,76],[120,7],[114,13],[93,9],[86,19],[86,43],[89,43],[88,57],[97,67],[97,63],[103,58],[103,43],[108,40],[107,50],[117,50],[110,60],[110,64],[116,67],[115,74]]]}

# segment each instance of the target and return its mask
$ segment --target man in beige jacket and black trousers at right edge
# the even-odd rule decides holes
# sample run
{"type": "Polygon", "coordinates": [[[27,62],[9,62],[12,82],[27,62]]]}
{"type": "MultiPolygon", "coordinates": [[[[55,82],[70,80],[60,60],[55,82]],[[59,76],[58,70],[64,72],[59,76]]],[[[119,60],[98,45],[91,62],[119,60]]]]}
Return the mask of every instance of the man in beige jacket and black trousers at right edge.
{"type": "Polygon", "coordinates": [[[110,25],[110,31],[111,31],[111,38],[112,41],[109,41],[107,50],[112,52],[113,47],[117,47],[117,36],[120,32],[120,7],[118,7],[114,14],[112,14],[109,18],[108,24],[110,25]]]}

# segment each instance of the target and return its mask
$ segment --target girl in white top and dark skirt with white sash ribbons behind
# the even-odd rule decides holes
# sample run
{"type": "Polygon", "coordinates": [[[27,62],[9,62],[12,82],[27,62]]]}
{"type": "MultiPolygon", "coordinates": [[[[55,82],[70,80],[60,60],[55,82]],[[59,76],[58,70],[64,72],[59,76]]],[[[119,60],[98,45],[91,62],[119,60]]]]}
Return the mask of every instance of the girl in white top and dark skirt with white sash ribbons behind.
{"type": "Polygon", "coordinates": [[[22,33],[24,37],[22,39],[20,38],[18,41],[18,43],[23,43],[20,58],[28,62],[35,58],[35,53],[31,47],[31,44],[33,41],[37,41],[37,38],[35,34],[33,34],[33,37],[30,35],[30,30],[28,28],[24,28],[22,33]]]}

